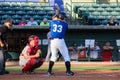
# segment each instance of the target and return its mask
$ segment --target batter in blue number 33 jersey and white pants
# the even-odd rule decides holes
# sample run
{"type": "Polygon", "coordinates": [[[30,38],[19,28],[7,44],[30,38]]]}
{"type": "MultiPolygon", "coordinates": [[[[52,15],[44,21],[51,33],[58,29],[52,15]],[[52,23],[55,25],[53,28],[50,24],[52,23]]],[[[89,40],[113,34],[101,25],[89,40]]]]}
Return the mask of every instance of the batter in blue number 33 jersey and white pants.
{"type": "Polygon", "coordinates": [[[52,20],[50,22],[50,31],[51,31],[51,52],[52,56],[49,62],[48,75],[53,75],[52,67],[54,62],[57,60],[58,50],[62,54],[65,60],[66,66],[66,75],[73,76],[74,73],[71,71],[70,57],[68,54],[68,49],[66,47],[64,37],[66,30],[68,29],[68,24],[64,21],[64,14],[59,13],[57,20],[52,20]]]}

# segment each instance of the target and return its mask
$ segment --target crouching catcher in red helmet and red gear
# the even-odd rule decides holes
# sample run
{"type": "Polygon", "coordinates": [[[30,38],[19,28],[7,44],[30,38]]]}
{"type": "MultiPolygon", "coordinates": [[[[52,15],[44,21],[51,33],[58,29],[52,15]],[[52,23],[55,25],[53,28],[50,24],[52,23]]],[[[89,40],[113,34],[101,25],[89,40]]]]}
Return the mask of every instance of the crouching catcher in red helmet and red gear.
{"type": "Polygon", "coordinates": [[[40,58],[41,50],[38,47],[39,37],[31,35],[28,38],[28,44],[20,54],[19,64],[23,67],[22,73],[34,73],[34,69],[43,64],[43,59],[40,58]]]}

